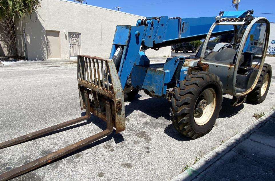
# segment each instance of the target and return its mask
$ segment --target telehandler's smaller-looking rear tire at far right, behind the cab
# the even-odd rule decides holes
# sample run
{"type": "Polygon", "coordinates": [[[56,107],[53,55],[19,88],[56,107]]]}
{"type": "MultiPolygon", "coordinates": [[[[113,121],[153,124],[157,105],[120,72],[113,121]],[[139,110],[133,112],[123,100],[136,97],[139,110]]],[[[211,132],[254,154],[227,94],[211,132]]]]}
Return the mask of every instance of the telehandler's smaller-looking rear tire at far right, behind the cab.
{"type": "Polygon", "coordinates": [[[261,75],[255,88],[248,93],[247,100],[252,104],[264,102],[271,82],[272,69],[271,65],[264,63],[261,75]]]}

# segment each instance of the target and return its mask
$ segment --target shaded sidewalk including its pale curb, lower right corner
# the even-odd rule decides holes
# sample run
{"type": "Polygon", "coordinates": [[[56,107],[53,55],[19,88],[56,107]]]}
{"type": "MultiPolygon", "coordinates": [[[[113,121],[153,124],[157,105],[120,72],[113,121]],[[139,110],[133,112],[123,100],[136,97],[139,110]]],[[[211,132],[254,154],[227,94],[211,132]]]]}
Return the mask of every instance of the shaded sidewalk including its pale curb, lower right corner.
{"type": "Polygon", "coordinates": [[[226,141],[179,180],[275,180],[275,109],[226,141]]]}

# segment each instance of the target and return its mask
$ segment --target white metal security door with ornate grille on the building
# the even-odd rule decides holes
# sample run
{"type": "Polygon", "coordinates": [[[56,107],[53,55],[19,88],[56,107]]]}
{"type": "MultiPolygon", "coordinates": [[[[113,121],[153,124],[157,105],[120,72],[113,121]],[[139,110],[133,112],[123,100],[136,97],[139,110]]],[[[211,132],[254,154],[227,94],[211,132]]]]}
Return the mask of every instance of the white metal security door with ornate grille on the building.
{"type": "Polygon", "coordinates": [[[80,33],[69,33],[69,52],[70,59],[77,59],[77,55],[81,54],[80,33]]]}

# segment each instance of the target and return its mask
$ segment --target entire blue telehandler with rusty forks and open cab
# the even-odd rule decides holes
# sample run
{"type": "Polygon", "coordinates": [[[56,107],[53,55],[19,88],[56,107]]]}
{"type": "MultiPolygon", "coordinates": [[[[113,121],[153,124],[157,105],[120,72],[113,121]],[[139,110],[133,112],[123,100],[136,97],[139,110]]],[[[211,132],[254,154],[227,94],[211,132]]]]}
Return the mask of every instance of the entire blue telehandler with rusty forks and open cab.
{"type": "Polygon", "coordinates": [[[86,114],[0,143],[0,149],[87,120],[91,114],[106,122],[106,130],[7,171],[0,180],[50,163],[111,134],[113,128],[116,133],[125,130],[124,95],[133,99],[140,90],[171,101],[172,124],[181,134],[192,139],[205,135],[219,116],[223,94],[233,96],[232,106],[246,100],[259,104],[266,98],[272,73],[264,63],[269,33],[268,20],[254,18],[253,10],[202,18],[146,17],[136,26],[117,26],[109,59],[78,55],[80,107],[86,114]],[[218,36],[219,46],[211,46],[209,41],[218,36]],[[166,63],[150,64],[145,54],[148,49],[202,39],[194,57],[168,57],[166,63]]]}

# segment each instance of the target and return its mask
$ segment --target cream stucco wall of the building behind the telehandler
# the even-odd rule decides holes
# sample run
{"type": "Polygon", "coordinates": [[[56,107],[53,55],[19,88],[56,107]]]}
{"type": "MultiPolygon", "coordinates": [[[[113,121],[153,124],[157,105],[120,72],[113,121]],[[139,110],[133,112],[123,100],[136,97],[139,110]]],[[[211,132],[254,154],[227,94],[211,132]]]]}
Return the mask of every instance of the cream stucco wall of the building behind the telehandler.
{"type": "MultiPolygon", "coordinates": [[[[53,30],[60,31],[61,59],[69,59],[68,32],[81,33],[81,54],[109,58],[116,25],[135,25],[140,18],[144,17],[71,1],[43,0],[37,15],[26,18],[27,57],[47,59],[46,30],[53,30]]],[[[169,56],[170,50],[147,50],[146,55],[169,56]]]]}

